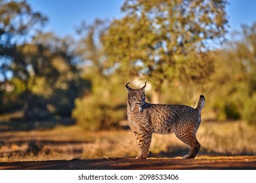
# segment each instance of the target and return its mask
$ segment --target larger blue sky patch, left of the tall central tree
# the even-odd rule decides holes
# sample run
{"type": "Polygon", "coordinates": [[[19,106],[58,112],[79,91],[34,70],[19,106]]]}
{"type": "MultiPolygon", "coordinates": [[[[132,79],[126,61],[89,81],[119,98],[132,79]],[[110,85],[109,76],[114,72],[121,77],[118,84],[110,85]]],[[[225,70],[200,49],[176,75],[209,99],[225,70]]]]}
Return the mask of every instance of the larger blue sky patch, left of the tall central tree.
{"type": "Polygon", "coordinates": [[[121,16],[123,0],[27,0],[33,10],[49,18],[47,31],[56,35],[74,35],[82,21],[92,24],[96,18],[112,20],[121,16]]]}

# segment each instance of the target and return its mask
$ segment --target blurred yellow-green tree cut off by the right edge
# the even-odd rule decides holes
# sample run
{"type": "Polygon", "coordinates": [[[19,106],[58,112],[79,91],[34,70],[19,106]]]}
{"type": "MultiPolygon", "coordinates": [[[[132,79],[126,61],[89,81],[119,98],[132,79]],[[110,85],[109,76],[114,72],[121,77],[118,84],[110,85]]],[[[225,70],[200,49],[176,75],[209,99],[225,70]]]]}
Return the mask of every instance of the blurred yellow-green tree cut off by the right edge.
{"type": "Polygon", "coordinates": [[[246,122],[256,124],[256,22],[242,25],[241,35],[238,41],[230,42],[232,46],[228,50],[228,56],[237,68],[234,70],[237,83],[234,93],[241,93],[234,103],[246,122]]]}

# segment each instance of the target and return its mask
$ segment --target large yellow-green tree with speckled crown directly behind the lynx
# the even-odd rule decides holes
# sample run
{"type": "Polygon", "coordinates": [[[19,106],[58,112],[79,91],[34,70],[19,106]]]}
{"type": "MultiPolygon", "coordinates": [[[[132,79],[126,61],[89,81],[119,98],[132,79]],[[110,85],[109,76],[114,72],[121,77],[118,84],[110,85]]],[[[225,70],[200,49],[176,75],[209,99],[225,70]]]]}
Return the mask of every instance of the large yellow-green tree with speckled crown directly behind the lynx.
{"type": "Polygon", "coordinates": [[[104,48],[117,75],[152,83],[159,101],[165,81],[203,82],[213,72],[211,45],[226,33],[226,1],[126,0],[121,19],[110,25],[104,48]]]}

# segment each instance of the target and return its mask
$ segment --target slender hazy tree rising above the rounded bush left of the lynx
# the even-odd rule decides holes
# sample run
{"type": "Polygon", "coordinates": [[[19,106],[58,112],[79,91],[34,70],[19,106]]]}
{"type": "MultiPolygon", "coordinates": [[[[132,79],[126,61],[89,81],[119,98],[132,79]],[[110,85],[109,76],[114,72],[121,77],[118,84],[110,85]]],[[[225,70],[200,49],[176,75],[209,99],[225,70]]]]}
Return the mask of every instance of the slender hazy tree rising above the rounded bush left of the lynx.
{"type": "Polygon", "coordinates": [[[102,20],[95,20],[92,25],[85,25],[83,22],[77,29],[80,39],[75,48],[82,65],[85,65],[84,77],[91,80],[95,87],[102,86],[102,88],[108,84],[107,59],[101,41],[106,26],[102,20]]]}

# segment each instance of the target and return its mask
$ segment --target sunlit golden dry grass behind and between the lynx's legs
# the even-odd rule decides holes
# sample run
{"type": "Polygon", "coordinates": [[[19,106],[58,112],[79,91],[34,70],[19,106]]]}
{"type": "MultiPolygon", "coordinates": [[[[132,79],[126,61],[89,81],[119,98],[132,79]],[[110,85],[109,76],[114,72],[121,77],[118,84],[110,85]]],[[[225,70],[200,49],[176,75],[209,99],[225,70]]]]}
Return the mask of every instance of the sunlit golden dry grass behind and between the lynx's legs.
{"type": "MultiPolygon", "coordinates": [[[[204,155],[255,155],[256,129],[242,122],[203,122],[198,130],[204,155]]],[[[174,134],[154,134],[150,156],[184,156],[189,148],[174,134]]],[[[130,130],[85,131],[79,126],[0,132],[0,161],[45,161],[135,157],[138,148],[130,130]]]]}

